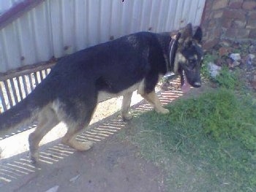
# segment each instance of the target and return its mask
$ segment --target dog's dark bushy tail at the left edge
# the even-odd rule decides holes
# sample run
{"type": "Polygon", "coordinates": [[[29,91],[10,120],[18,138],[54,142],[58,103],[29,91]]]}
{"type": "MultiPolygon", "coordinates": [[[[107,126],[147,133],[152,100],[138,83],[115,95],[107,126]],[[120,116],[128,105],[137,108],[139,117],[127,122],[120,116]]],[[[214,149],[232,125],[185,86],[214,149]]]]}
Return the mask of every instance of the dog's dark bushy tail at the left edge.
{"type": "Polygon", "coordinates": [[[10,110],[0,114],[0,134],[7,134],[18,126],[30,123],[37,117],[42,107],[50,101],[49,92],[45,91],[45,85],[37,85],[26,99],[23,99],[10,110]]]}

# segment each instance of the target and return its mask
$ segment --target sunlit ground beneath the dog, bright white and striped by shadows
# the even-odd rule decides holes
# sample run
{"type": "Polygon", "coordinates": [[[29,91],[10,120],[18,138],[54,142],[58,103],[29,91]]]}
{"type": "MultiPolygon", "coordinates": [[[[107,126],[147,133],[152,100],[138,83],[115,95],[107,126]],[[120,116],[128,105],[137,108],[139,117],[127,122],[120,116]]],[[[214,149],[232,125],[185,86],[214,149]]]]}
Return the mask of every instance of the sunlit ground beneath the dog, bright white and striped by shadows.
{"type": "MultiPolygon", "coordinates": [[[[177,84],[179,83],[179,80],[172,83],[177,84]]],[[[177,99],[179,96],[182,96],[181,91],[159,92],[160,100],[164,105],[170,103],[170,101],[173,101],[174,99],[177,99]]],[[[143,98],[140,95],[136,92],[133,93],[131,104],[132,109],[143,112],[152,110],[151,105],[142,100],[143,98]]],[[[98,104],[97,110],[94,113],[94,118],[91,120],[89,130],[80,134],[77,139],[80,142],[91,141],[97,143],[108,138],[110,135],[116,134],[116,132],[121,128],[124,128],[125,123],[121,120],[120,115],[116,113],[121,109],[121,101],[122,98],[119,97],[117,99],[109,99],[108,101],[98,104]],[[110,119],[101,121],[108,117],[110,117],[110,119]]],[[[34,131],[34,128],[0,140],[0,183],[10,183],[12,180],[17,179],[24,174],[29,174],[30,172],[35,172],[35,170],[39,169],[29,161],[28,137],[32,131],[34,131]],[[15,155],[18,155],[18,160],[10,162],[9,159],[15,155]]],[[[74,153],[75,150],[65,145],[61,145],[61,143],[42,149],[43,145],[56,141],[56,139],[64,136],[66,131],[67,128],[64,123],[59,123],[59,125],[54,127],[52,131],[42,139],[42,142],[40,143],[41,148],[39,147],[40,162],[45,164],[55,164],[61,159],[74,153]]]]}

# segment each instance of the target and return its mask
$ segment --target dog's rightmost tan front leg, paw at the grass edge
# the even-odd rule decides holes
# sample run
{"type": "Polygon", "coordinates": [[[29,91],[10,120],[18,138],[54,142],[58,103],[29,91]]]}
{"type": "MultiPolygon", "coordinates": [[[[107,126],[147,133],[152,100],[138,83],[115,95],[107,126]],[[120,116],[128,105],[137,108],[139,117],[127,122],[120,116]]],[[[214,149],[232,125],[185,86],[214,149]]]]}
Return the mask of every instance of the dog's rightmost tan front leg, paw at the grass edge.
{"type": "Polygon", "coordinates": [[[156,112],[162,113],[162,114],[167,114],[169,113],[169,110],[165,109],[162,107],[161,101],[159,100],[157,93],[154,91],[151,91],[150,93],[141,93],[138,91],[141,96],[143,96],[144,99],[146,99],[153,107],[156,112]]]}

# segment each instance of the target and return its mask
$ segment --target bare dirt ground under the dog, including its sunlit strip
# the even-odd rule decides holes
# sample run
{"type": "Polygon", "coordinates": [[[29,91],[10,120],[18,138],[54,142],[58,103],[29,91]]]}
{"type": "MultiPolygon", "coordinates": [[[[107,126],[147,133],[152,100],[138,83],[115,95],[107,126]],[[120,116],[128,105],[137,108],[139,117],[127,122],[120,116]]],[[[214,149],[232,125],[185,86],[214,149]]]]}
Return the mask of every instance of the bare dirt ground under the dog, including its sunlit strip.
{"type": "MultiPolygon", "coordinates": [[[[176,89],[162,91],[161,101],[167,104],[181,95],[176,89]]],[[[135,93],[134,110],[152,110],[140,100],[135,93]]],[[[61,145],[59,137],[66,131],[61,123],[43,139],[37,165],[29,161],[27,144],[33,128],[2,139],[0,191],[165,191],[164,172],[141,158],[135,145],[117,137],[120,129],[132,128],[118,115],[120,107],[121,98],[99,104],[89,131],[78,137],[94,142],[83,153],[61,145]]]]}

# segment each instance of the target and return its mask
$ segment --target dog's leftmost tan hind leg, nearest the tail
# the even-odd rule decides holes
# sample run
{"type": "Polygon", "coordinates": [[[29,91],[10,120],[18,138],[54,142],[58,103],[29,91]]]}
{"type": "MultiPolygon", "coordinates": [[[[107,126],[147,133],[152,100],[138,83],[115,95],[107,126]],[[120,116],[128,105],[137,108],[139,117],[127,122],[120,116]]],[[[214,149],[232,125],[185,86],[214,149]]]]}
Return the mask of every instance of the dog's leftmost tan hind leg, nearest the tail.
{"type": "Polygon", "coordinates": [[[38,147],[42,137],[44,137],[45,134],[47,134],[48,131],[50,131],[58,123],[59,119],[56,112],[52,108],[45,107],[39,113],[37,128],[29,135],[29,150],[32,163],[36,163],[39,158],[38,147]]]}

